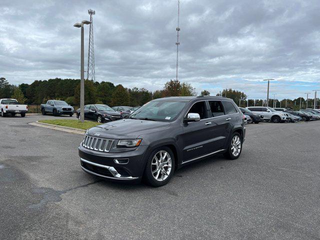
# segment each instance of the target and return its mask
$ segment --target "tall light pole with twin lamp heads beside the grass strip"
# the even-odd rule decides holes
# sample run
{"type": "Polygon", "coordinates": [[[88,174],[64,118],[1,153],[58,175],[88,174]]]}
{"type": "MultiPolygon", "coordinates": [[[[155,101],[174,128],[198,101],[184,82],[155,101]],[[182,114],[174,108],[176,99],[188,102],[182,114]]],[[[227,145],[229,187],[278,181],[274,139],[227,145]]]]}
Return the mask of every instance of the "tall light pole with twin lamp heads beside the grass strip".
{"type": "Polygon", "coordinates": [[[73,26],[81,27],[81,68],[80,68],[80,120],[84,122],[84,30],[83,24],[90,24],[88,20],[83,20],[81,23],[75,23],[73,26]]]}

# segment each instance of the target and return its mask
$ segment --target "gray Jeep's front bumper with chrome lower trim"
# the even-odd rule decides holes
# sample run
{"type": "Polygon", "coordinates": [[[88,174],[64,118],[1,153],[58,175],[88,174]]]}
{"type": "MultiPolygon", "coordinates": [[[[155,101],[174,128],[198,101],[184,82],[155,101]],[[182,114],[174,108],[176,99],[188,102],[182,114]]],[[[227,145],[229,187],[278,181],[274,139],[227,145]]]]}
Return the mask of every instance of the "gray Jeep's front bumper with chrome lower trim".
{"type": "Polygon", "coordinates": [[[99,152],[78,147],[81,168],[91,174],[118,180],[141,178],[146,164],[146,145],[134,150],[121,152],[99,152]],[[124,163],[123,163],[124,162],[124,163]]]}

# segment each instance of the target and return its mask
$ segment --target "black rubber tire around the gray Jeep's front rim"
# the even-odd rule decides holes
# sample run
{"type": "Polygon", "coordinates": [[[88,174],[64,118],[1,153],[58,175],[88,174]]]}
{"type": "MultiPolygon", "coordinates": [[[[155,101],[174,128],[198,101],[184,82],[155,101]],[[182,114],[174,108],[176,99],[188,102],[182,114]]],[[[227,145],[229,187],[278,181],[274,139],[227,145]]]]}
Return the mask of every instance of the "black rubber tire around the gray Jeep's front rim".
{"type": "Polygon", "coordinates": [[[172,150],[167,146],[161,146],[161,147],[158,147],[158,148],[154,149],[151,152],[151,154],[149,155],[149,158],[148,158],[148,160],[147,160],[147,162],[145,164],[145,168],[144,168],[143,180],[147,184],[149,184],[151,186],[155,186],[155,187],[163,186],[166,183],[168,183],[168,181],[171,179],[171,177],[172,177],[172,175],[174,173],[174,170],[175,170],[175,158],[174,158],[174,154],[173,154],[172,150]],[[155,155],[155,153],[157,153],[160,150],[167,151],[170,154],[170,157],[171,157],[171,171],[170,171],[169,176],[163,181],[155,180],[153,175],[152,175],[152,172],[151,172],[151,162],[152,162],[153,156],[155,155]]]}

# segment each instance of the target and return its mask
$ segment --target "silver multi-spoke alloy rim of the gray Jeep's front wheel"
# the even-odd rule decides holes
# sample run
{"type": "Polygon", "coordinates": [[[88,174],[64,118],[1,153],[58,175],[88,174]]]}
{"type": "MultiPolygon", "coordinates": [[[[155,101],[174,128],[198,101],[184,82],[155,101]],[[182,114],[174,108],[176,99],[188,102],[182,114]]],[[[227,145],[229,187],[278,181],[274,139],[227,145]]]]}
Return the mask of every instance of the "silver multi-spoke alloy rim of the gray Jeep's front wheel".
{"type": "Polygon", "coordinates": [[[160,150],[154,154],[151,162],[152,176],[157,181],[165,180],[171,172],[171,156],[167,151],[160,150]]]}

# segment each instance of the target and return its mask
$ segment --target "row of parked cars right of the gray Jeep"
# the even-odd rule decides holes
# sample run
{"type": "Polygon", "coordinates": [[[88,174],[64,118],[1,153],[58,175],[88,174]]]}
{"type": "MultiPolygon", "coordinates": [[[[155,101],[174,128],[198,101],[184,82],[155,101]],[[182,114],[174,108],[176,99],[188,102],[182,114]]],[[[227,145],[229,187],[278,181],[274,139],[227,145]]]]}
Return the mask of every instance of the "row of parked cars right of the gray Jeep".
{"type": "Polygon", "coordinates": [[[272,108],[268,106],[239,107],[245,116],[246,123],[259,123],[260,121],[297,122],[320,119],[319,109],[272,108]]]}

